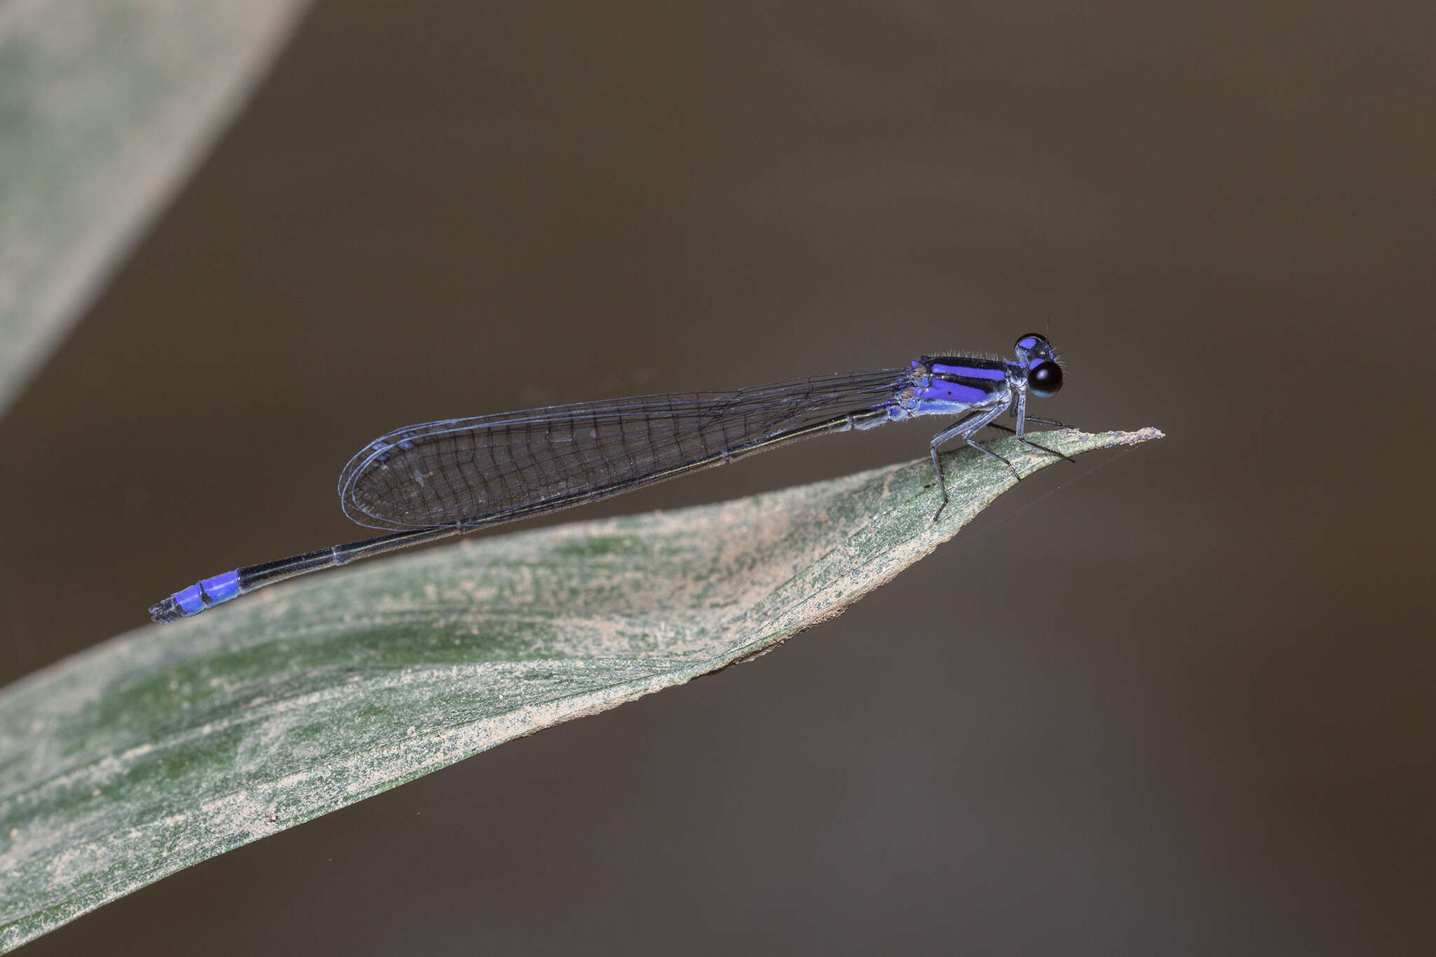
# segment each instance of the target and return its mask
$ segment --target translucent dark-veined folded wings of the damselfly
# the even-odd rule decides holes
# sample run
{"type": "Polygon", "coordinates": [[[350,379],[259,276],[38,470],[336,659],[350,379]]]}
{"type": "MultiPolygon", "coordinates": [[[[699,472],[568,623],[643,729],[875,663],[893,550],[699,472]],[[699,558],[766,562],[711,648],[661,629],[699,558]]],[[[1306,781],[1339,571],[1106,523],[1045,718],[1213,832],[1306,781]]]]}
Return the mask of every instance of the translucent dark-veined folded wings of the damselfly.
{"type": "Polygon", "coordinates": [[[370,442],[339,498],[355,522],[393,531],[538,515],[847,428],[908,385],[906,369],[880,369],[428,422],[370,442]]]}

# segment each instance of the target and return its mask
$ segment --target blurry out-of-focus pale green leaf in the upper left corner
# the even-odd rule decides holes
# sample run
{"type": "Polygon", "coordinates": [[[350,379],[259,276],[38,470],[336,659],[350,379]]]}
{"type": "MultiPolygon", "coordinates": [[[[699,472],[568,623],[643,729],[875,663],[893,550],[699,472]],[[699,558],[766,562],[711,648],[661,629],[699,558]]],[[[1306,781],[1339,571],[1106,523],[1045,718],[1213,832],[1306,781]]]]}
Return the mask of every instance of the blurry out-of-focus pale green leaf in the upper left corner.
{"type": "Polygon", "coordinates": [[[0,3],[0,410],[198,162],[306,6],[0,3]]]}

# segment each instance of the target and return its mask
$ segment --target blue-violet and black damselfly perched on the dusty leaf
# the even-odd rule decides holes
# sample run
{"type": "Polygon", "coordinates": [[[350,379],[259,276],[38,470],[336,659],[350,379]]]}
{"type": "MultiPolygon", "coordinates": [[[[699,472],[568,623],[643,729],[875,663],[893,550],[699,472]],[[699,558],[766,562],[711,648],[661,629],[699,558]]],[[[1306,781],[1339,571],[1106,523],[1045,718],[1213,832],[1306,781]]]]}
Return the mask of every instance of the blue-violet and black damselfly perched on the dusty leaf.
{"type": "Polygon", "coordinates": [[[948,504],[938,448],[962,439],[1012,468],[974,440],[979,429],[995,426],[1061,455],[1024,438],[1028,422],[1060,425],[1028,416],[1028,393],[1047,397],[1061,385],[1051,344],[1030,333],[1017,340],[1012,362],[923,356],[906,369],[405,426],[370,442],[339,475],[345,514],[389,534],[205,578],[152,605],[149,614],[174,621],[284,578],[596,502],[814,435],[922,415],[959,416],[929,442],[942,494],[936,521],[948,504]],[[994,423],[1008,409],[1014,429],[994,423]]]}

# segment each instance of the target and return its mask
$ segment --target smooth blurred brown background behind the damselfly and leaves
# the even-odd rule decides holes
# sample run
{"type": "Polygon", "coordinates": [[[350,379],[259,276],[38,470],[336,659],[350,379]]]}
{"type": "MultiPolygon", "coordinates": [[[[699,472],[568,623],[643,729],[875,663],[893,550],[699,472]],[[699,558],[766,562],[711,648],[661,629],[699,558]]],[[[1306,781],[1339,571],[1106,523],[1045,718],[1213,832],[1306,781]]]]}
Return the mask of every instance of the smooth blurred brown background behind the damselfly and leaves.
{"type": "MultiPolygon", "coordinates": [[[[1430,4],[320,3],[0,419],[4,680],[406,422],[1002,352],[1167,439],[26,953],[1429,953],[1430,4]]],[[[620,498],[918,458],[922,425],[620,498]]]]}

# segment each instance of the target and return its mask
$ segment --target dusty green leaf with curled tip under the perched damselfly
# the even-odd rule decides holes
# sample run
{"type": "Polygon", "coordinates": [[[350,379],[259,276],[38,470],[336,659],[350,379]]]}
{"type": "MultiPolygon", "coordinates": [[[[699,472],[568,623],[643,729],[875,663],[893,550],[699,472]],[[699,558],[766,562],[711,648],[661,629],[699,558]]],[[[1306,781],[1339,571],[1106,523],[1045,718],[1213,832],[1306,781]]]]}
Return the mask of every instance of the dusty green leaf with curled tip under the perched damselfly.
{"type": "MultiPolygon", "coordinates": [[[[1048,432],[1076,455],[1159,438],[1048,432]]],[[[1028,473],[1057,462],[1015,439],[1028,473]]],[[[1070,466],[1064,466],[1070,468],[1070,466]]],[[[279,585],[0,690],[0,946],[505,740],[773,650],[1015,485],[978,452],[279,585]]],[[[136,595],[142,608],[152,595],[136,595]]]]}

